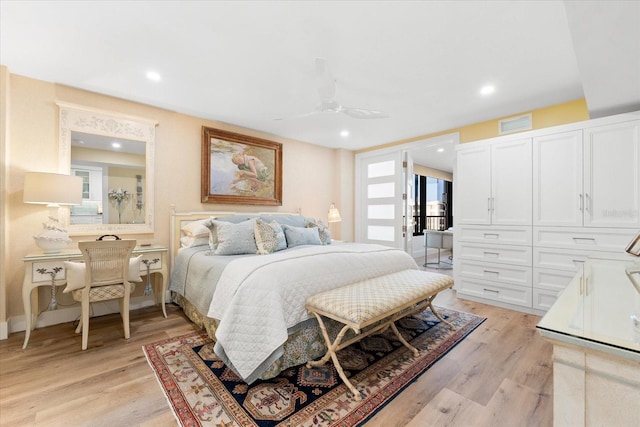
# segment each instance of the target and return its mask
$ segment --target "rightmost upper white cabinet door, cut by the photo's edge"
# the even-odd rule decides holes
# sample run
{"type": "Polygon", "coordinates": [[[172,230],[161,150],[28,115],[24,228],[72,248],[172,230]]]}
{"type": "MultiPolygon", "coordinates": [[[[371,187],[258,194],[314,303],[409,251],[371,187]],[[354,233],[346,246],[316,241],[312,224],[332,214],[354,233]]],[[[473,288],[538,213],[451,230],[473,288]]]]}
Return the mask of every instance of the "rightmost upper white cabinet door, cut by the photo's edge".
{"type": "Polygon", "coordinates": [[[640,120],[584,132],[584,225],[640,227],[640,120]]]}

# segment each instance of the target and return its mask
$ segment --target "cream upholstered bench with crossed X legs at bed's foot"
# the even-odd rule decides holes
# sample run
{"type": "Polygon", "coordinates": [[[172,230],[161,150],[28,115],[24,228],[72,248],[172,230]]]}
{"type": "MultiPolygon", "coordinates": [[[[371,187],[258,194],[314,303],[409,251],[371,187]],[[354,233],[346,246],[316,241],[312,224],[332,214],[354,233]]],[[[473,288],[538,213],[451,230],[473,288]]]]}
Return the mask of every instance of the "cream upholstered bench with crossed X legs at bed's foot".
{"type": "Polygon", "coordinates": [[[421,270],[403,270],[307,298],[305,307],[318,319],[320,330],[327,344],[327,353],[322,359],[307,362],[307,366],[320,366],[331,358],[342,381],[353,392],[356,400],[361,400],[360,393],[347,379],[340,366],[336,352],[390,327],[398,340],[411,350],[414,356],[418,356],[418,350],[402,337],[394,322],[428,307],[439,320],[454,328],[431,305],[440,291],[452,286],[453,279],[443,274],[421,270]],[[329,338],[322,316],[344,324],[333,342],[329,338]],[[352,329],[356,335],[342,342],[349,329],[352,329]]]}

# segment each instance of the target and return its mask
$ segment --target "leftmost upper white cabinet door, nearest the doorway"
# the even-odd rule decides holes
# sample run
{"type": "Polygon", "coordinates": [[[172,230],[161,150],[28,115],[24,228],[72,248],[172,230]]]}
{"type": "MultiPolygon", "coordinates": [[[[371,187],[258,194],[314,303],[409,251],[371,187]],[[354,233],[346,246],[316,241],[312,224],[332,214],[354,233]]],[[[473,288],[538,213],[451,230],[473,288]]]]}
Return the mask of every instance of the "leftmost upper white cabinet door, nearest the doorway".
{"type": "Polygon", "coordinates": [[[458,224],[490,224],[491,147],[459,150],[454,180],[458,224]]]}

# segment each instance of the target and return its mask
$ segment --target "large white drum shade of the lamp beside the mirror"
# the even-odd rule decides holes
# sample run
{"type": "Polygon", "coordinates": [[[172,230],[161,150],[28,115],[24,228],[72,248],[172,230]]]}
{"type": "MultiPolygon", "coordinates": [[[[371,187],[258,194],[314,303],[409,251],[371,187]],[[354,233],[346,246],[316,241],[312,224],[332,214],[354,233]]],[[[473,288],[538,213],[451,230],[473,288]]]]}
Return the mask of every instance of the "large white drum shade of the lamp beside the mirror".
{"type": "Polygon", "coordinates": [[[23,201],[42,205],[80,205],[82,178],[58,173],[27,172],[24,176],[23,201]]]}

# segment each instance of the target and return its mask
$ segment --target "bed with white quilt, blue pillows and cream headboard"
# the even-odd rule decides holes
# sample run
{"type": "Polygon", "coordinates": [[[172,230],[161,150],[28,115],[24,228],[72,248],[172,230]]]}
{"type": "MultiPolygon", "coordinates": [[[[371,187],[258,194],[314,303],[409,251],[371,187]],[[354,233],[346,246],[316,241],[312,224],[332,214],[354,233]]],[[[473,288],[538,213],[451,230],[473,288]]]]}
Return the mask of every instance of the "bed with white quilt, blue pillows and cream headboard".
{"type": "MultiPolygon", "coordinates": [[[[171,249],[174,301],[249,384],[325,354],[317,321],[304,307],[307,297],[418,269],[398,249],[331,242],[326,226],[296,214],[173,212],[171,249]]],[[[337,334],[340,325],[327,328],[337,334]]]]}

